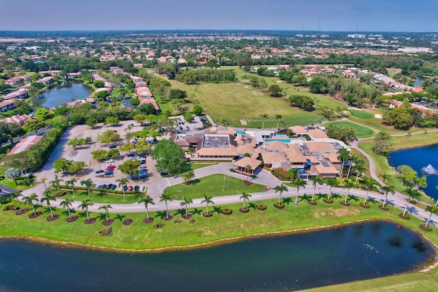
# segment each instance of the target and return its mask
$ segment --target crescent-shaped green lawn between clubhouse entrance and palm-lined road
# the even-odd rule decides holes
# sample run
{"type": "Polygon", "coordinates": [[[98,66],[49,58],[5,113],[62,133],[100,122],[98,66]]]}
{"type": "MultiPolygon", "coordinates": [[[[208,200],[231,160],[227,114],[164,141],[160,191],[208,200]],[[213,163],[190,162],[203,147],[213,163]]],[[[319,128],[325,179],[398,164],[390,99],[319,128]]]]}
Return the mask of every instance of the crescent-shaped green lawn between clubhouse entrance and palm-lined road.
{"type": "Polygon", "coordinates": [[[266,185],[253,183],[244,185],[244,181],[233,176],[224,176],[223,174],[212,174],[203,178],[195,178],[190,185],[172,185],[166,187],[163,193],[169,193],[174,200],[182,200],[183,197],[195,199],[203,198],[204,195],[211,196],[229,196],[245,193],[259,193],[265,191],[266,185]],[[225,188],[223,189],[223,187],[225,188]]]}

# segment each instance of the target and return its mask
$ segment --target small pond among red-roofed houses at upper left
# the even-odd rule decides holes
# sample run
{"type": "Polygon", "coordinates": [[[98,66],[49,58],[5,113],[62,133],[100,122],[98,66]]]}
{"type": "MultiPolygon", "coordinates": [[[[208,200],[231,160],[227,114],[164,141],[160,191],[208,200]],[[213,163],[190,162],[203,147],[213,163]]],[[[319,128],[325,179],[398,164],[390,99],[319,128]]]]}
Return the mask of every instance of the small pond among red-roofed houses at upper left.
{"type": "Polygon", "coordinates": [[[60,86],[46,90],[34,99],[34,108],[60,107],[62,103],[70,103],[73,98],[85,99],[92,93],[92,88],[81,81],[64,81],[60,86]]]}

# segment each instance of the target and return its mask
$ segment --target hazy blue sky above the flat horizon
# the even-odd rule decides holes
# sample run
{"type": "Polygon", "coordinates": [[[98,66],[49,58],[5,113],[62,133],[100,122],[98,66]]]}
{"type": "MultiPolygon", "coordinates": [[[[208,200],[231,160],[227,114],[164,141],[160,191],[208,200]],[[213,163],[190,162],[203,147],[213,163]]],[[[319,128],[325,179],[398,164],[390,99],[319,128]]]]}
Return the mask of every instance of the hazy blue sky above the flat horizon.
{"type": "Polygon", "coordinates": [[[438,0],[0,0],[0,30],[437,31],[438,0]]]}

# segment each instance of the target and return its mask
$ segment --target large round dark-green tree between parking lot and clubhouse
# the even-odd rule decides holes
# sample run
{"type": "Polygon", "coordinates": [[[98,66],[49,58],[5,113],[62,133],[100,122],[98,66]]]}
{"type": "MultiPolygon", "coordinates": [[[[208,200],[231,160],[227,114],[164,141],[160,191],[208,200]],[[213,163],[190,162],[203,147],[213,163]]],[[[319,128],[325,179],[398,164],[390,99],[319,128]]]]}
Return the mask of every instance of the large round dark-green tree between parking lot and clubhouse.
{"type": "Polygon", "coordinates": [[[175,176],[187,170],[184,151],[172,140],[160,140],[151,155],[157,161],[156,167],[159,172],[168,172],[171,176],[175,176]]]}

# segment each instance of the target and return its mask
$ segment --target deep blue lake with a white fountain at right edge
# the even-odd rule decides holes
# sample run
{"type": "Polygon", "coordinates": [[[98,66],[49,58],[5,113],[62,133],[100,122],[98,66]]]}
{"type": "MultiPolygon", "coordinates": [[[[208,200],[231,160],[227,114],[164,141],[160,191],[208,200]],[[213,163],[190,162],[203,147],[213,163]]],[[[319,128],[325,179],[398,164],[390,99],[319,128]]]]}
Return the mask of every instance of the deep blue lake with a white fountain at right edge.
{"type": "Polygon", "coordinates": [[[423,190],[428,196],[438,199],[438,144],[391,152],[388,162],[394,168],[409,165],[419,176],[427,175],[427,187],[423,190]]]}

